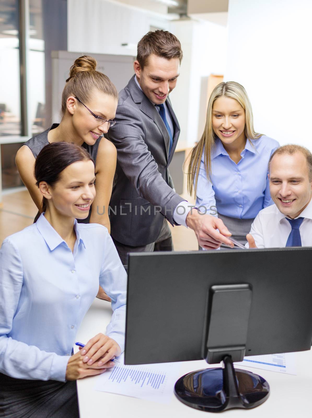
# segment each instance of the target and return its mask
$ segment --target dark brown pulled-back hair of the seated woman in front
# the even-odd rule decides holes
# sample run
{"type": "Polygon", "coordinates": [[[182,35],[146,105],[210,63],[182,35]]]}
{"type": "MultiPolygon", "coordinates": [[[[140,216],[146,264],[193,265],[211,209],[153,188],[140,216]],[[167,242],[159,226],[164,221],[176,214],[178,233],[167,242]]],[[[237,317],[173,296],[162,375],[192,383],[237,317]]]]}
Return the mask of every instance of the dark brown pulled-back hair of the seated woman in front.
{"type": "MultiPolygon", "coordinates": [[[[91,155],[79,145],[69,142],[53,142],[42,148],[35,162],[36,186],[45,181],[50,186],[59,181],[61,172],[76,161],[93,161],[91,155]]],[[[93,161],[94,164],[94,161],[93,161]]],[[[46,198],[42,199],[41,212],[46,210],[46,198]]]]}

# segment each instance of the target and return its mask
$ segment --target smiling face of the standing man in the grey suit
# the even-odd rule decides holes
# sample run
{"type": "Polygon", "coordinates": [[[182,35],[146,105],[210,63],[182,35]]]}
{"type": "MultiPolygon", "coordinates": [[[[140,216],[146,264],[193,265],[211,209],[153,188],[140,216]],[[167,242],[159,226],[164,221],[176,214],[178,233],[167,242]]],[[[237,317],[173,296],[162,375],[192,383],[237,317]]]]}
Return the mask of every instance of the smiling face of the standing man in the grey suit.
{"type": "Polygon", "coordinates": [[[166,59],[155,54],[148,57],[143,69],[138,61],[134,62],[134,71],[141,89],[154,104],[164,103],[176,87],[179,69],[179,58],[166,59]]]}

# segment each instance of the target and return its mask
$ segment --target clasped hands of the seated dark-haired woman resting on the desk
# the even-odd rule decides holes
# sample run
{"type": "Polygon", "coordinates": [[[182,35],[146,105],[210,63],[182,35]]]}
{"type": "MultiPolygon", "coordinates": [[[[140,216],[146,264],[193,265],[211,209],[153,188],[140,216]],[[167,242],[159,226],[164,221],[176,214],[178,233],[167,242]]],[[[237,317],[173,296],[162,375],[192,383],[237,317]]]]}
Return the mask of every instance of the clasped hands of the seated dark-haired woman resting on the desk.
{"type": "Polygon", "coordinates": [[[120,347],[115,340],[104,334],[97,334],[83,349],[70,357],[66,368],[66,380],[100,375],[115,365],[110,360],[120,354],[120,347]]]}

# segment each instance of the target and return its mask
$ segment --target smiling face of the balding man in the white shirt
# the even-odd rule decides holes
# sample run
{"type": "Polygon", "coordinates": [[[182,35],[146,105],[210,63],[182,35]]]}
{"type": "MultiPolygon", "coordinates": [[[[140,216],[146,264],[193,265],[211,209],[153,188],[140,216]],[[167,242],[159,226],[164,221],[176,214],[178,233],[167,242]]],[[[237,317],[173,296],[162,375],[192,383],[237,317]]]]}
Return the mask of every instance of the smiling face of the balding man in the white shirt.
{"type": "Polygon", "coordinates": [[[270,192],[279,211],[297,218],[311,200],[307,160],[301,152],[276,154],[270,164],[270,192]]]}

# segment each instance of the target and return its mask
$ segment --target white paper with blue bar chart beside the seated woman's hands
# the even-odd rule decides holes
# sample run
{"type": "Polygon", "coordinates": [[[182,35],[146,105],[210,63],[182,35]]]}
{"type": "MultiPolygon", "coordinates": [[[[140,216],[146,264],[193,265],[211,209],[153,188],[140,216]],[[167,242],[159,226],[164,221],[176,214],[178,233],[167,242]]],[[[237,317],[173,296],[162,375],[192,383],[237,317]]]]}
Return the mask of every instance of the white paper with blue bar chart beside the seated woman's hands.
{"type": "Polygon", "coordinates": [[[118,361],[113,370],[97,377],[95,390],[170,403],[174,384],[180,377],[180,363],[126,366],[123,356],[118,361]]]}

